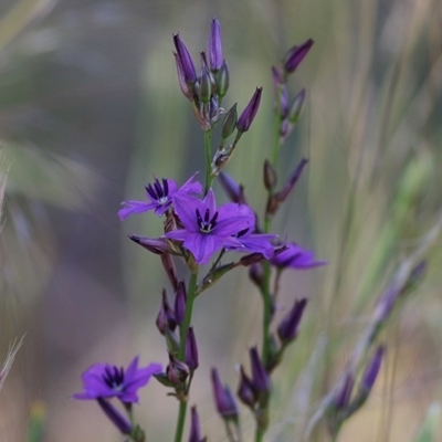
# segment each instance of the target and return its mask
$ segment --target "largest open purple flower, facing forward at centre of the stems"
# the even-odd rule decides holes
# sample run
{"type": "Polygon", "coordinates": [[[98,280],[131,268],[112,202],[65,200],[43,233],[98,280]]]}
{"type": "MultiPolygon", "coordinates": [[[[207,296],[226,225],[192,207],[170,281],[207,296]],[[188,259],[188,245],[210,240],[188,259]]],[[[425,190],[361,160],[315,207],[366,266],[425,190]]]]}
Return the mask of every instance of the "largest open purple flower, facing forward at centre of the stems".
{"type": "Polygon", "coordinates": [[[248,206],[232,202],[217,209],[212,189],[206,198],[197,200],[189,197],[177,198],[175,210],[185,229],[166,233],[166,238],[183,241],[198,264],[207,264],[213,253],[222,248],[248,251],[233,238],[241,231],[253,231],[255,217],[248,206]]]}

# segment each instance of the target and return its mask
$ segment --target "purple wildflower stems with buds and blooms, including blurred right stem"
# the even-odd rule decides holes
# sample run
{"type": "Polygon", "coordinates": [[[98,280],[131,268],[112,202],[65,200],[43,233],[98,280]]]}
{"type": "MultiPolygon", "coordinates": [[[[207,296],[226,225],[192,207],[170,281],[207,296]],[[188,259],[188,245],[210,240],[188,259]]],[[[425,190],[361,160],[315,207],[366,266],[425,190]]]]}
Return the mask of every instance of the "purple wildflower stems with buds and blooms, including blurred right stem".
{"type": "MultiPolygon", "coordinates": [[[[200,54],[199,72],[181,36],[173,35],[178,84],[203,131],[201,150],[206,170],[194,171],[181,186],[172,178],[154,176],[145,188],[147,200],[125,201],[118,212],[122,221],[133,214],[157,215],[164,220],[164,234],[159,238],[129,234],[129,239],[159,255],[170,282],[173,295],[170,296],[166,290],[162,292],[156,320],[165,338],[168,362],[165,368],[159,364],[138,368],[138,358],[127,369],[108,364],[94,365],[83,373],[84,392],[74,396],[75,399],[96,400],[105,415],[131,441],[146,439],[146,431],[135,423],[133,403],[138,401],[138,389],[151,376],[178,401],[175,442],[208,440],[203,436],[194,404],[189,417],[190,434],[188,438],[183,434],[188,407],[192,402],[192,380],[204,359],[204,355],[198,351],[198,335],[202,332],[193,327],[193,305],[203,292],[236,267],[246,267],[250,280],[260,292],[263,304],[262,341],[260,346],[249,349],[250,366],[240,366],[236,389],[224,385],[222,373],[212,368],[214,406],[225,424],[230,442],[244,441],[238,400],[254,417],[254,441],[263,441],[269,431],[272,375],[283,362],[286,348],[302,333],[303,316],[308,307],[306,298],[294,297],[293,307],[287,309],[285,317],[275,320],[282,274],[290,270],[314,270],[326,264],[326,261],[316,259],[313,251],[304,249],[293,239],[285,240],[285,233],[278,236],[272,229],[274,217],[290,201],[308,162],[302,159],[283,185],[278,185],[280,150],[299,120],[307,96],[302,90],[291,99],[288,81],[313,45],[309,39],[291,48],[281,64],[272,67],[275,137],[269,159],[263,165],[266,204],[260,215],[248,204],[243,186],[224,168],[232,160],[245,133],[253,130],[263,88],[255,87],[240,114],[236,103],[229,109],[223,108],[222,101],[229,90],[231,73],[222,51],[219,21],[214,19],[211,22],[208,53],[200,54]],[[217,126],[220,144],[213,147],[212,134],[217,126]],[[215,179],[220,180],[231,202],[217,204],[215,179]],[[186,264],[188,275],[179,275],[176,260],[186,264]],[[120,402],[123,411],[114,406],[115,400],[120,402]]],[[[319,420],[325,420],[329,435],[336,440],[343,423],[367,400],[386,352],[385,346],[378,343],[379,330],[399,296],[423,274],[424,264],[414,262],[414,266],[409,265],[407,272],[400,273],[391,290],[382,295],[367,335],[355,349],[341,379],[312,417],[307,434],[313,432],[319,420]]]]}

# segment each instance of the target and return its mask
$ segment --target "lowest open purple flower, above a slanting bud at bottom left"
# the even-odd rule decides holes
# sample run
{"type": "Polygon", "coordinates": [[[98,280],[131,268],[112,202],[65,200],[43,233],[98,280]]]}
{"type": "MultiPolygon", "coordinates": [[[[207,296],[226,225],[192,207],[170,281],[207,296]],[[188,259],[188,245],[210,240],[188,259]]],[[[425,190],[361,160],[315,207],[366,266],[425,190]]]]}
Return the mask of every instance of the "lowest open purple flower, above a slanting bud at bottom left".
{"type": "Polygon", "coordinates": [[[109,364],[95,364],[82,375],[84,392],[74,394],[73,398],[118,398],[125,403],[138,402],[137,390],[159,371],[161,371],[159,364],[138,368],[138,356],[126,370],[109,364]]]}

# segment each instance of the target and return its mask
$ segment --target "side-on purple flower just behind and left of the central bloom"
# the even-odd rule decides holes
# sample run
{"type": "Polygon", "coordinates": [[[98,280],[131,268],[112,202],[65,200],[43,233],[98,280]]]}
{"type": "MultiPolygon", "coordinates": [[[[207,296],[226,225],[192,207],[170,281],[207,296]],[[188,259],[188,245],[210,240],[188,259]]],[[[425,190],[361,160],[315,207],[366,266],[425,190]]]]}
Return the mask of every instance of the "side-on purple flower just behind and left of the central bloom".
{"type": "Polygon", "coordinates": [[[123,221],[134,213],[143,213],[149,210],[155,210],[155,213],[161,217],[172,204],[175,198],[201,193],[201,183],[198,181],[193,182],[196,175],[197,173],[190,177],[180,188],[177,182],[170,178],[162,178],[161,181],[156,178],[154,183],[146,186],[146,194],[150,199],[150,202],[123,202],[122,204],[125,207],[118,211],[119,219],[123,221]]]}

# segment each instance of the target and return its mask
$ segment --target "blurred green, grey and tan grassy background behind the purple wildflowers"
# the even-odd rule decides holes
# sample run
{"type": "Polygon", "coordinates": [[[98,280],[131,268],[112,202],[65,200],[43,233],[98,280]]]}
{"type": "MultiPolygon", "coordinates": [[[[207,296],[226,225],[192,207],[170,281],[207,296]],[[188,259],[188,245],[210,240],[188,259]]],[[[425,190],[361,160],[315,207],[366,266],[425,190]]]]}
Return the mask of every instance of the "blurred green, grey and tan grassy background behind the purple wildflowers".
{"type": "MultiPolygon", "coordinates": [[[[171,35],[180,32],[197,59],[213,17],[231,72],[225,107],[242,109],[264,87],[227,168],[260,213],[274,131],[270,67],[293,44],[315,40],[291,83],[308,99],[282,149],[280,181],[303,156],[311,162],[274,230],[329,264],[282,277],[282,308],[295,297],[311,302],[304,333],[276,372],[269,441],[298,440],[389,277],[436,219],[440,1],[2,0],[0,355],[25,335],[0,391],[2,442],[24,441],[42,402],[41,441],[120,441],[95,403],[70,399],[81,372],[96,361],[127,365],[136,354],[167,364],[155,318],[168,283],[158,257],[126,238],[160,234],[161,221],[120,223],[116,212],[125,199],[144,199],[154,173],[179,182],[203,173],[202,133],[178,87],[171,35]]],[[[442,399],[441,241],[434,245],[424,283],[383,334],[388,356],[370,401],[339,441],[414,441],[442,399]]],[[[245,271],[198,298],[201,368],[191,403],[210,441],[225,440],[210,368],[235,388],[235,365],[260,343],[260,315],[245,271]]],[[[165,392],[151,382],[136,409],[149,441],[172,439],[177,403],[165,392]]],[[[243,430],[252,440],[245,409],[243,430]]]]}

